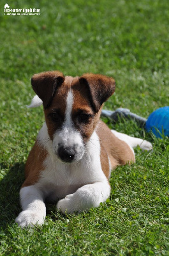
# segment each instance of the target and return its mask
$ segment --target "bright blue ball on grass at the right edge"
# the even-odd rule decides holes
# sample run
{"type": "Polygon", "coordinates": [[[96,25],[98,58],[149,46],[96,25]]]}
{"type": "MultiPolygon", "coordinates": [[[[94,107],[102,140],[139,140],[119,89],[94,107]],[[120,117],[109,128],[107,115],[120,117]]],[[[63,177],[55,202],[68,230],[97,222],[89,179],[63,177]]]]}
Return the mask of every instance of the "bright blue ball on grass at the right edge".
{"type": "Polygon", "coordinates": [[[169,137],[169,106],[152,112],[145,123],[145,129],[152,131],[158,138],[162,138],[161,134],[169,137]]]}

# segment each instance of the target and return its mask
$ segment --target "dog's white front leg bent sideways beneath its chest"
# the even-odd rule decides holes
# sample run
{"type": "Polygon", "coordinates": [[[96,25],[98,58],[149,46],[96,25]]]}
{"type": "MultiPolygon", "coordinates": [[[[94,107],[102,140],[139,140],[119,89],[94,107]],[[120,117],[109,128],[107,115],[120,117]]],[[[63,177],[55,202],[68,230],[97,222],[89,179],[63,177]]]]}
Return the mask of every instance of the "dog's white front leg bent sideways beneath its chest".
{"type": "Polygon", "coordinates": [[[101,202],[107,200],[108,196],[110,196],[110,184],[107,181],[87,184],[59,200],[57,209],[62,213],[87,211],[91,207],[98,207],[101,202]]]}

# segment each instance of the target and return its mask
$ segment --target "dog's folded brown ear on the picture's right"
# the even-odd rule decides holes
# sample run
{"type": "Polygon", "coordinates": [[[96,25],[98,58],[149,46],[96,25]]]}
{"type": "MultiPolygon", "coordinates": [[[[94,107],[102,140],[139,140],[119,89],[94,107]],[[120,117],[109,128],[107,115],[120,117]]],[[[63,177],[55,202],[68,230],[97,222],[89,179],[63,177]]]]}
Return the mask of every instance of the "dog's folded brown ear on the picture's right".
{"type": "Polygon", "coordinates": [[[96,112],[101,105],[115,92],[115,80],[112,77],[95,74],[84,74],[79,77],[81,84],[86,84],[92,97],[92,107],[96,112]]]}

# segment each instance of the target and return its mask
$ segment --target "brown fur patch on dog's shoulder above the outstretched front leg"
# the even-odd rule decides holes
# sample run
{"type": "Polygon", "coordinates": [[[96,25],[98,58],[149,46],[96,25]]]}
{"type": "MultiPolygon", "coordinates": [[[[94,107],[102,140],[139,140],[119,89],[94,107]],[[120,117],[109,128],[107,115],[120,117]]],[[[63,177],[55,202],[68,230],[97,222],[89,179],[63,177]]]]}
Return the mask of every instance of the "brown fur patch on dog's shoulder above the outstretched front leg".
{"type": "Polygon", "coordinates": [[[43,161],[47,157],[47,154],[47,150],[40,147],[36,141],[27,158],[25,167],[26,180],[22,184],[22,188],[31,186],[38,182],[38,179],[40,178],[40,172],[45,169],[43,166],[43,161]]]}

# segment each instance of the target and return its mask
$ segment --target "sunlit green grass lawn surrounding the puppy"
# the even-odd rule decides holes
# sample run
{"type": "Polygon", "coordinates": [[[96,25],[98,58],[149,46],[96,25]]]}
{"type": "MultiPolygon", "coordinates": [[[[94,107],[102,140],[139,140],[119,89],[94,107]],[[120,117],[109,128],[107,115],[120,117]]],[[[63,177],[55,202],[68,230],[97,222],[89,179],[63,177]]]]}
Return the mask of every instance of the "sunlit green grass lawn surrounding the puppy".
{"type": "Polygon", "coordinates": [[[169,105],[168,0],[8,1],[10,8],[40,8],[40,16],[4,16],[0,4],[0,255],[169,255],[168,138],[159,140],[135,122],[111,124],[151,141],[136,148],[136,164],[112,172],[105,204],[63,216],[47,205],[43,227],[22,230],[19,189],[24,164],[43,123],[42,108],[27,109],[36,72],[115,77],[107,109],[149,114],[169,105]]]}

